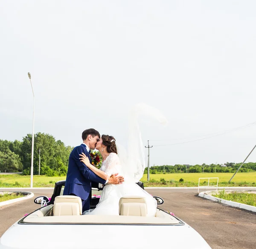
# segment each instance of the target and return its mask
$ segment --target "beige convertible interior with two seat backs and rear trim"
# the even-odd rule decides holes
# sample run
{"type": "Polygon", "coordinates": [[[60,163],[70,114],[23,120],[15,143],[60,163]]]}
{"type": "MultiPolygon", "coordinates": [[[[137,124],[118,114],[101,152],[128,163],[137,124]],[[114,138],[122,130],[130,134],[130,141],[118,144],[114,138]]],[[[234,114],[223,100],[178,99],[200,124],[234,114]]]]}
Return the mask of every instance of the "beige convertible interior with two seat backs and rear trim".
{"type": "MultiPolygon", "coordinates": [[[[125,196],[120,198],[119,215],[82,215],[81,198],[73,195],[58,195],[61,194],[62,187],[63,184],[58,185],[57,182],[55,185],[54,194],[48,205],[43,206],[38,210],[32,212],[31,214],[27,215],[23,219],[23,223],[165,225],[175,225],[180,223],[180,221],[176,217],[166,213],[159,208],[157,208],[155,217],[147,217],[146,200],[144,197],[140,196],[125,196]]],[[[40,201],[44,201],[45,199],[45,197],[37,198],[40,201]]],[[[38,203],[36,202],[36,199],[35,203],[38,203]]],[[[98,202],[99,198],[96,199],[98,199],[96,201],[98,202]]],[[[94,204],[93,206],[91,206],[91,208],[95,208],[94,204]]]]}

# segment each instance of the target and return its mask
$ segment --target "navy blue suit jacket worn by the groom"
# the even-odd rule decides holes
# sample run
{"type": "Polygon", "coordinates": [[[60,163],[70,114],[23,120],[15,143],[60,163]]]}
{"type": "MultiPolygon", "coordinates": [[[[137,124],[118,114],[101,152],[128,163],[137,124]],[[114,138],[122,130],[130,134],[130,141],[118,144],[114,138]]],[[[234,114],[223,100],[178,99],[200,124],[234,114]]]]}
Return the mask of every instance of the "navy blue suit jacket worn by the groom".
{"type": "Polygon", "coordinates": [[[70,153],[67,179],[65,182],[63,195],[75,194],[81,197],[82,200],[87,200],[91,191],[91,182],[106,183],[106,180],[98,177],[91,171],[83,162],[80,162],[79,154],[82,152],[90,159],[86,146],[81,144],[76,146],[70,153]]]}

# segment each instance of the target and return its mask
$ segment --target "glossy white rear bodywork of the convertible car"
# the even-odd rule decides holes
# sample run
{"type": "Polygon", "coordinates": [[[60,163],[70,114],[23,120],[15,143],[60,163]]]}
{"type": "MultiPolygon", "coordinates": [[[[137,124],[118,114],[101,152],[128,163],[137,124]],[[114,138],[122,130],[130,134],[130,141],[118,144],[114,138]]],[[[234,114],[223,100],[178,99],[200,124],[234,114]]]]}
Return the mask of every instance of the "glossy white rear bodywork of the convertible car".
{"type": "Polygon", "coordinates": [[[16,222],[0,238],[0,249],[156,249],[160,246],[210,248],[204,238],[186,223],[130,225],[16,222]]]}

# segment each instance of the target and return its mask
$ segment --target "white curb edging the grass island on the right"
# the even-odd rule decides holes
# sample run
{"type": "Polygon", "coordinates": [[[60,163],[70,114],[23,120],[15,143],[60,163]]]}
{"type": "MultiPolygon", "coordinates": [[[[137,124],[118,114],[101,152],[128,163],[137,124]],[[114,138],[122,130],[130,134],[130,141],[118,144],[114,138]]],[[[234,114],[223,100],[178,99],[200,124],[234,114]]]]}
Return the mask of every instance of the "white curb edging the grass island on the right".
{"type": "MultiPolygon", "coordinates": [[[[251,190],[255,190],[255,188],[251,188],[251,190]]],[[[230,191],[234,191],[234,190],[230,190],[230,191]]],[[[256,212],[256,207],[255,206],[250,206],[250,205],[247,205],[247,204],[237,203],[237,202],[234,202],[234,201],[231,201],[231,200],[224,200],[224,199],[221,199],[221,198],[218,198],[218,197],[214,197],[214,196],[210,195],[210,193],[212,193],[212,192],[217,192],[217,191],[216,190],[215,191],[204,191],[204,192],[199,193],[198,196],[206,198],[208,200],[213,200],[215,202],[222,203],[222,204],[225,204],[225,205],[228,205],[228,206],[232,206],[232,207],[235,207],[235,208],[242,208],[242,209],[245,209],[245,210],[248,210],[248,211],[256,212]]]]}

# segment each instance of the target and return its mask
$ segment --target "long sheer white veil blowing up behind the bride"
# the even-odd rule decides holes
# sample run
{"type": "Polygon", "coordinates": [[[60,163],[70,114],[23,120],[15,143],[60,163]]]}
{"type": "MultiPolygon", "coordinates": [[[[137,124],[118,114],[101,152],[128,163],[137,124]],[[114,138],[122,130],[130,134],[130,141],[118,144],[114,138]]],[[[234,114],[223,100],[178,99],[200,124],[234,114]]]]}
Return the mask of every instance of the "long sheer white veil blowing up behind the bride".
{"type": "Polygon", "coordinates": [[[145,146],[140,132],[138,119],[140,116],[149,116],[161,124],[166,125],[167,119],[155,107],[139,103],[132,107],[129,118],[128,149],[116,144],[117,154],[122,165],[125,182],[138,182],[145,170],[145,146]]]}

